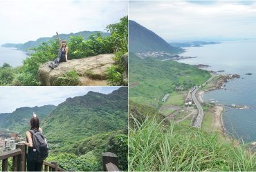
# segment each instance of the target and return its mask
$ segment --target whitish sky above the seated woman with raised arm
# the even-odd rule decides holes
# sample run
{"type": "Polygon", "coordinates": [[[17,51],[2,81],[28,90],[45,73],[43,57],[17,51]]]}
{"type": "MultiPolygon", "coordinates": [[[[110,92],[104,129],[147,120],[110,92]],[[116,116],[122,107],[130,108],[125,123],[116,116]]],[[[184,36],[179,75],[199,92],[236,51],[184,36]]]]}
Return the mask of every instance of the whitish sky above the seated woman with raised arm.
{"type": "Polygon", "coordinates": [[[0,45],[71,32],[105,31],[128,14],[128,1],[1,0],[0,45]]]}

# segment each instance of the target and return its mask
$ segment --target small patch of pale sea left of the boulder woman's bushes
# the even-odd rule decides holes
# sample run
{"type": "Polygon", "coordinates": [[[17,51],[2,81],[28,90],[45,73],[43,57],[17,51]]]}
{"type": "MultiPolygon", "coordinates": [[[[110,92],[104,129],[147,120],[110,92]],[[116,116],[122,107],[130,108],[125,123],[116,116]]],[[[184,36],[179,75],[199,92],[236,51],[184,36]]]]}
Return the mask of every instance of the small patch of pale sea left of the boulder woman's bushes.
{"type": "Polygon", "coordinates": [[[26,57],[26,52],[11,47],[0,47],[0,66],[3,63],[8,63],[12,67],[21,66],[26,57]]]}

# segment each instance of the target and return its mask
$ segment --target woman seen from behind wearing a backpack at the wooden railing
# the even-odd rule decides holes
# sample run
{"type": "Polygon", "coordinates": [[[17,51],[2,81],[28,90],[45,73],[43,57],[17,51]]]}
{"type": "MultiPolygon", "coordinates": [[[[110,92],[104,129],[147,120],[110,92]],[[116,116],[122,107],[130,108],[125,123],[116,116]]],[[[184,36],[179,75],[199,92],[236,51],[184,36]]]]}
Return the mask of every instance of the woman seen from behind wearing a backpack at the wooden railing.
{"type": "Polygon", "coordinates": [[[39,118],[33,114],[33,118],[30,119],[30,130],[26,131],[27,142],[23,142],[28,146],[28,171],[42,171],[43,162],[48,156],[48,143],[42,132],[39,118]]]}

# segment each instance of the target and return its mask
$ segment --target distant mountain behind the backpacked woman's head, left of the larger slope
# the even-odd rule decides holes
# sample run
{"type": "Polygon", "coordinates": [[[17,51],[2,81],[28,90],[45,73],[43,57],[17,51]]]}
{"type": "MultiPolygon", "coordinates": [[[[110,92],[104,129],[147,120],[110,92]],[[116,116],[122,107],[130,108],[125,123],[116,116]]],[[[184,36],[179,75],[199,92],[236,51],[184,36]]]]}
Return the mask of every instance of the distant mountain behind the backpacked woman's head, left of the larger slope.
{"type": "Polygon", "coordinates": [[[0,116],[6,116],[0,122],[0,127],[10,129],[12,131],[23,132],[29,129],[30,118],[33,116],[33,111],[37,114],[40,121],[43,121],[51,111],[55,109],[54,105],[45,105],[42,107],[21,107],[17,108],[10,114],[0,114],[0,116]]]}

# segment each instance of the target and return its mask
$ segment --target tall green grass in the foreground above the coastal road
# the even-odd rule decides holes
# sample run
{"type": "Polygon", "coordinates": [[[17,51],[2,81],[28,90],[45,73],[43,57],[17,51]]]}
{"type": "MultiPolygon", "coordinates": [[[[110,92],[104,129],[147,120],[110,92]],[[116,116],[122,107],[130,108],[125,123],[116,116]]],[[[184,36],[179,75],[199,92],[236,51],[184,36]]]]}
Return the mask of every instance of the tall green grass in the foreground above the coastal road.
{"type": "Polygon", "coordinates": [[[129,128],[129,171],[256,171],[246,145],[221,142],[218,133],[147,118],[129,128]]]}

